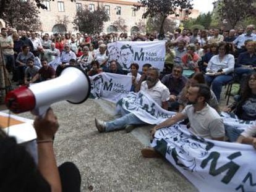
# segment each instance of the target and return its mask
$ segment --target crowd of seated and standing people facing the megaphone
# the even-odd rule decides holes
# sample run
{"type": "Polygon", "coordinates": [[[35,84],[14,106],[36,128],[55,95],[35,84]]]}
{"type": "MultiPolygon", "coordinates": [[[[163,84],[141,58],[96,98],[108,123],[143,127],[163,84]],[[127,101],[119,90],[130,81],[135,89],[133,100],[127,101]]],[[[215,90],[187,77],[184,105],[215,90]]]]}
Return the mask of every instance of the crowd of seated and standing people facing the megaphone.
{"type": "MultiPolygon", "coordinates": [[[[130,91],[143,90],[163,109],[177,112],[171,119],[156,125],[151,130],[152,136],[160,128],[188,119],[189,131],[197,136],[252,144],[256,149],[256,127],[245,131],[224,127],[218,103],[222,87],[236,81],[240,84],[239,94],[223,111],[234,111],[242,120],[256,120],[254,26],[229,31],[178,28],[166,33],[163,40],[166,41],[163,72],[150,63],[144,64],[142,69],[137,63],[131,63],[130,71],[123,70],[117,61],[109,59],[107,49],[109,43],[116,41],[159,41],[158,33],[40,35],[35,31],[2,28],[0,46],[6,69],[18,85],[58,77],[67,65],[80,67],[90,76],[101,72],[130,75],[130,91]]],[[[99,132],[122,128],[130,131],[135,125],[145,124],[130,112],[123,110],[121,114],[122,117],[111,122],[95,119],[96,128],[99,132]]],[[[142,154],[159,156],[153,149],[142,149],[142,154]]]]}

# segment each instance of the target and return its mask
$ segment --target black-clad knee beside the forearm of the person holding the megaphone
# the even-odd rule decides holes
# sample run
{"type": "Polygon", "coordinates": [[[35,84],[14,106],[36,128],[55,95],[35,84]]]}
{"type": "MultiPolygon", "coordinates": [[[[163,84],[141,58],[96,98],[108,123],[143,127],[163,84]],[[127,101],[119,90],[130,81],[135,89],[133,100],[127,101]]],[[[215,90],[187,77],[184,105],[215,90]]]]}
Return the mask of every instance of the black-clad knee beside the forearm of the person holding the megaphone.
{"type": "Polygon", "coordinates": [[[72,162],[64,162],[58,168],[62,192],[80,192],[81,176],[77,166],[72,162]]]}

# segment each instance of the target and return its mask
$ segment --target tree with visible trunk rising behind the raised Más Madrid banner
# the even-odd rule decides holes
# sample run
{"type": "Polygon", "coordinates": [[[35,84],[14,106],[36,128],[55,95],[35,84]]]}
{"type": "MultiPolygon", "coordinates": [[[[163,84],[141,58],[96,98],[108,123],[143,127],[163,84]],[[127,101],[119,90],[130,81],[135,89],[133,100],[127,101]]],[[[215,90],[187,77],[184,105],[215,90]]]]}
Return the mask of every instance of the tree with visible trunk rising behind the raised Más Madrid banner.
{"type": "Polygon", "coordinates": [[[192,0],[140,0],[139,4],[134,4],[136,10],[141,7],[146,7],[146,12],[143,14],[143,18],[155,17],[156,15],[161,15],[161,25],[160,25],[160,38],[164,38],[164,21],[169,15],[179,16],[179,12],[186,10],[186,14],[191,13],[192,0]]]}

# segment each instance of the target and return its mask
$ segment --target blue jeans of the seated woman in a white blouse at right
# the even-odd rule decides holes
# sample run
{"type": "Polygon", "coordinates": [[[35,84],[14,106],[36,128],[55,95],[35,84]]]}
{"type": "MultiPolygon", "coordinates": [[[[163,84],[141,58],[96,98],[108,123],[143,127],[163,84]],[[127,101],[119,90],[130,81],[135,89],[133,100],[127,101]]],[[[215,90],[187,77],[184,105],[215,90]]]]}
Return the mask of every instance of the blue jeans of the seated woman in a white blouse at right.
{"type": "Polygon", "coordinates": [[[232,75],[219,75],[219,76],[209,76],[205,75],[205,81],[207,81],[208,85],[211,85],[211,89],[215,94],[218,101],[220,101],[220,94],[222,90],[222,86],[233,80],[232,75]]]}

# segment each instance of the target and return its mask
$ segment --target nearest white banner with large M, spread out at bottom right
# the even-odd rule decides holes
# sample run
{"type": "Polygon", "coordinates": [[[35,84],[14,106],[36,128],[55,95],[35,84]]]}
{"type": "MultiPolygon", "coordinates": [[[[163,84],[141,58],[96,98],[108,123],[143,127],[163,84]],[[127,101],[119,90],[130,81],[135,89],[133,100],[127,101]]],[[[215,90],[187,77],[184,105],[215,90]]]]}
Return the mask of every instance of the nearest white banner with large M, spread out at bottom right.
{"type": "Polygon", "coordinates": [[[256,151],[247,144],[204,140],[174,125],[151,144],[199,191],[256,191],[256,151]]]}

